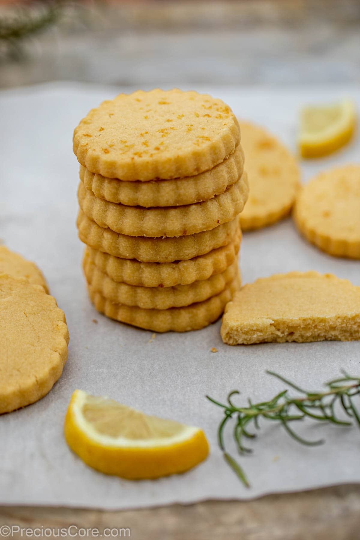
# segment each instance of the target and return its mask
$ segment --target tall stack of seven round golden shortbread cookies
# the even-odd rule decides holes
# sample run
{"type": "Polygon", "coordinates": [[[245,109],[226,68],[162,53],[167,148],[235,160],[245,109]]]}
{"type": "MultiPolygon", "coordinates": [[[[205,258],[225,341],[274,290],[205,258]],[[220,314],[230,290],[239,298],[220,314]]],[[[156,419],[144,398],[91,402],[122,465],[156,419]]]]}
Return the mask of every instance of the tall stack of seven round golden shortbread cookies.
{"type": "Polygon", "coordinates": [[[137,91],[74,131],[79,237],[94,306],[166,332],[207,326],[240,286],[248,197],[240,130],[219,99],[137,91]]]}

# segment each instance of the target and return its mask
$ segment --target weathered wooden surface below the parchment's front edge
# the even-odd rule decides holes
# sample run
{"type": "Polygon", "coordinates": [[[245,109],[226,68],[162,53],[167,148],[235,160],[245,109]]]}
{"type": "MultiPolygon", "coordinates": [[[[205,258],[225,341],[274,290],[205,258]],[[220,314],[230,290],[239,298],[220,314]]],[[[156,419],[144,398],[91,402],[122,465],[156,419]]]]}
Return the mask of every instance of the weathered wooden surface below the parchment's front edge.
{"type": "MultiPolygon", "coordinates": [[[[360,486],[123,512],[2,507],[3,524],[56,530],[76,525],[97,528],[100,534],[105,528],[128,528],[130,538],[137,540],[356,540],[360,486]]],[[[21,538],[21,532],[12,537],[21,538]]]]}

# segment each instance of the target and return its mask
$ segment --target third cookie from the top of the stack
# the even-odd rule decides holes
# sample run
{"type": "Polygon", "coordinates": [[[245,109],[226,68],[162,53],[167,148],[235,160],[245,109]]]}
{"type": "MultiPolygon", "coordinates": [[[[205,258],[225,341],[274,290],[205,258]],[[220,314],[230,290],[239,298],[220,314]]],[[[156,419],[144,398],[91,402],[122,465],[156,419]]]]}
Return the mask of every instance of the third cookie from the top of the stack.
{"type": "Polygon", "coordinates": [[[248,197],[246,172],[225,193],[186,206],[141,208],[97,198],[80,182],[81,210],[100,227],[133,237],[180,237],[209,231],[239,214],[248,197]]]}

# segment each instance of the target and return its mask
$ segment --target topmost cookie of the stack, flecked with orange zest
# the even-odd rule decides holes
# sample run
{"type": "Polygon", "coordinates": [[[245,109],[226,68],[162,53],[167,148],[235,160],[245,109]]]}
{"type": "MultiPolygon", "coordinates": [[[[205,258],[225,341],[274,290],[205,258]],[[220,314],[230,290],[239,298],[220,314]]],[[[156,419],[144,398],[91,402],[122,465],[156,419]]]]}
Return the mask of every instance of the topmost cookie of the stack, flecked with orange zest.
{"type": "Polygon", "coordinates": [[[239,143],[237,120],[220,99],[155,89],[92,109],[74,130],[73,151],[90,172],[148,181],[208,171],[239,143]]]}

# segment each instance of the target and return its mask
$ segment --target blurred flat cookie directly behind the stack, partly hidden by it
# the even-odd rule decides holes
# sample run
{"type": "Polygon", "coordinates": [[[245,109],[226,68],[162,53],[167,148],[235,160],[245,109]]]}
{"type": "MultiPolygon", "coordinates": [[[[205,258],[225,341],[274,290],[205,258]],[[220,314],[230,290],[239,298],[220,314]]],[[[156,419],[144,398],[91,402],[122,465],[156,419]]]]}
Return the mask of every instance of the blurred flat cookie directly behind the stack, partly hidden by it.
{"type": "Polygon", "coordinates": [[[248,231],[289,214],[300,187],[300,169],[290,151],[262,127],[240,121],[240,131],[250,188],[240,223],[248,231]]]}

